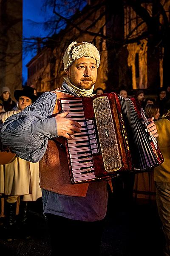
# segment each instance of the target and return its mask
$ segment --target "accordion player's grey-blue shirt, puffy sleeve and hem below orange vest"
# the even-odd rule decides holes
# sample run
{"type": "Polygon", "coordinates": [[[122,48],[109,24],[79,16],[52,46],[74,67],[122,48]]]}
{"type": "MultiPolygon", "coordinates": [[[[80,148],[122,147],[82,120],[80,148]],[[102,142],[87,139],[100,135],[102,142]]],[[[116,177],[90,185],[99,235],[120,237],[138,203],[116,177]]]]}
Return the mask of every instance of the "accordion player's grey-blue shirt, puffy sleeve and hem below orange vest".
{"type": "MultiPolygon", "coordinates": [[[[72,93],[65,83],[62,88],[72,93]]],[[[56,119],[51,117],[55,103],[56,94],[46,92],[22,112],[6,119],[1,130],[2,143],[10,146],[18,157],[33,163],[40,161],[48,138],[57,137],[56,119]]],[[[102,220],[107,211],[107,181],[91,182],[86,197],[60,195],[42,189],[42,200],[44,214],[82,221],[102,220]]]]}

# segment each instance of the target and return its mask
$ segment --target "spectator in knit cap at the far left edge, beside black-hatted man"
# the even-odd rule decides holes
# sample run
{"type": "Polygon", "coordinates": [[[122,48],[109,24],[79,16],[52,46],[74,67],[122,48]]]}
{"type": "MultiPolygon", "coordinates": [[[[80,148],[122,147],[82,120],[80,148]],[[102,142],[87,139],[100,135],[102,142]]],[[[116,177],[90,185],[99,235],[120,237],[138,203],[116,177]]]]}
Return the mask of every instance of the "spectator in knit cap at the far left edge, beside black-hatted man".
{"type": "Polygon", "coordinates": [[[2,100],[5,111],[12,110],[16,106],[16,103],[10,97],[10,89],[8,87],[2,87],[0,90],[0,99],[2,100]]]}

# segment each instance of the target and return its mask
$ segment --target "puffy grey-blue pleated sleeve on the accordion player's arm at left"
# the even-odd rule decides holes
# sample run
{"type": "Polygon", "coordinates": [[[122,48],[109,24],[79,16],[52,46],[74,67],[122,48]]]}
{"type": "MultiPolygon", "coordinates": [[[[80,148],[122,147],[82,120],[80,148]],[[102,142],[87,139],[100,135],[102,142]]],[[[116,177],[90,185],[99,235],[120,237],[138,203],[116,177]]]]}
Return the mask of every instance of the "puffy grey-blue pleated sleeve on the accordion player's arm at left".
{"type": "Polygon", "coordinates": [[[57,123],[51,117],[56,94],[46,92],[20,113],[6,119],[0,136],[18,157],[36,163],[45,154],[49,138],[57,137],[57,123]]]}

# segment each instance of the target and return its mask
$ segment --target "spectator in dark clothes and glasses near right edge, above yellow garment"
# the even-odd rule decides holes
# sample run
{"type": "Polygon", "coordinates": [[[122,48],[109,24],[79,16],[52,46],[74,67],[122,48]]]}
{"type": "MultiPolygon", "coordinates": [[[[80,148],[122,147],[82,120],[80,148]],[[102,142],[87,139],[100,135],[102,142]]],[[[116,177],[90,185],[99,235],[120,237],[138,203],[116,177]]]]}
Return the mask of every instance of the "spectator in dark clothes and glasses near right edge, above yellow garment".
{"type": "Polygon", "coordinates": [[[159,105],[159,111],[161,116],[167,112],[168,106],[166,106],[167,104],[166,90],[163,87],[159,88],[156,104],[159,105]]]}

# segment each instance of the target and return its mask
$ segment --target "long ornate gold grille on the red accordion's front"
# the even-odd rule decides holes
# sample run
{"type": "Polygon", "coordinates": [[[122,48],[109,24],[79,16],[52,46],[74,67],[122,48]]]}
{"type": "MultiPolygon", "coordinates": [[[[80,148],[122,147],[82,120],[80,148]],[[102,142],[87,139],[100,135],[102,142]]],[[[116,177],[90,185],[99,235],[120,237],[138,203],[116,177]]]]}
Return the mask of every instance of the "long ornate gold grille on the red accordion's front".
{"type": "Polygon", "coordinates": [[[93,100],[93,106],[105,170],[117,171],[122,167],[122,162],[108,97],[97,97],[93,100]]]}

